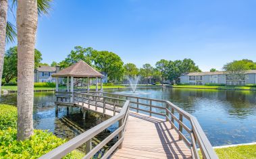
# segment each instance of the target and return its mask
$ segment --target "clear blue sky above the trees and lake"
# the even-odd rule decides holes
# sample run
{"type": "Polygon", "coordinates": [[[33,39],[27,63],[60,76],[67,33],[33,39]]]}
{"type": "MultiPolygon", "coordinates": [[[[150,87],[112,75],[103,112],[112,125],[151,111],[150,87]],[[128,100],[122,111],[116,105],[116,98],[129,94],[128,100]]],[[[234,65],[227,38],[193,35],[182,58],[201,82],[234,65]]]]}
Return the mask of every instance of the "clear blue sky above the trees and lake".
{"type": "Polygon", "coordinates": [[[80,45],[138,67],[190,58],[203,71],[220,70],[236,59],[256,61],[255,6],[254,0],[54,0],[39,18],[36,49],[45,63],[62,61],[80,45]]]}

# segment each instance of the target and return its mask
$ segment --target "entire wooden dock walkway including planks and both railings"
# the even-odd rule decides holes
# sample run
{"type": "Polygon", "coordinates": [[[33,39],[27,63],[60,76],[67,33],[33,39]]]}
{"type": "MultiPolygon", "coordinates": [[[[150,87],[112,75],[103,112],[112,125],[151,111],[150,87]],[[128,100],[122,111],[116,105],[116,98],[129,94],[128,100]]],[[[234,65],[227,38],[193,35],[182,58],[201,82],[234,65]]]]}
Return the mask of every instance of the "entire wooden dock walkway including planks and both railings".
{"type": "MultiPolygon", "coordinates": [[[[118,141],[101,158],[199,159],[199,149],[203,158],[218,158],[197,119],[168,100],[106,92],[74,92],[70,104],[110,118],[41,156],[41,159],[63,158],[82,144],[86,144],[84,158],[93,158],[117,135],[118,141]],[[141,106],[148,106],[148,109],[141,106]],[[157,118],[159,116],[163,118],[157,118]],[[189,123],[185,124],[184,119],[189,123]],[[92,148],[93,137],[117,122],[118,128],[92,148]]],[[[70,104],[63,102],[66,106],[70,104]]]]}

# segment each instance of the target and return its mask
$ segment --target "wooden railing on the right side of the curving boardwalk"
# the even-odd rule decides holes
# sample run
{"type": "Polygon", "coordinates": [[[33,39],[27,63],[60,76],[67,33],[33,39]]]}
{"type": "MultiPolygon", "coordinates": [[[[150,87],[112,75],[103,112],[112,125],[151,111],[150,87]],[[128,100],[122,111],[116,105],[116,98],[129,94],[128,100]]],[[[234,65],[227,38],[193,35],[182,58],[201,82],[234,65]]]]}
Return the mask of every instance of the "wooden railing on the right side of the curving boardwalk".
{"type": "Polygon", "coordinates": [[[203,158],[217,158],[215,151],[213,150],[197,119],[185,110],[182,110],[178,106],[172,104],[172,102],[168,100],[157,100],[108,92],[91,91],[90,93],[97,94],[99,96],[109,96],[109,98],[113,99],[123,98],[125,100],[130,100],[130,109],[135,109],[137,113],[138,110],[140,110],[141,112],[149,113],[150,116],[155,114],[165,117],[166,120],[171,123],[172,128],[178,132],[179,139],[182,139],[188,148],[190,148],[193,158],[199,158],[197,145],[203,154],[203,158]],[[146,106],[149,110],[139,108],[139,106],[146,106]],[[160,112],[163,111],[163,113],[156,112],[157,110],[160,112]],[[188,120],[190,125],[186,125],[186,123],[184,123],[184,118],[188,120]],[[176,127],[175,122],[178,123],[178,127],[176,127]],[[184,135],[184,130],[189,134],[189,137],[184,135]]]}

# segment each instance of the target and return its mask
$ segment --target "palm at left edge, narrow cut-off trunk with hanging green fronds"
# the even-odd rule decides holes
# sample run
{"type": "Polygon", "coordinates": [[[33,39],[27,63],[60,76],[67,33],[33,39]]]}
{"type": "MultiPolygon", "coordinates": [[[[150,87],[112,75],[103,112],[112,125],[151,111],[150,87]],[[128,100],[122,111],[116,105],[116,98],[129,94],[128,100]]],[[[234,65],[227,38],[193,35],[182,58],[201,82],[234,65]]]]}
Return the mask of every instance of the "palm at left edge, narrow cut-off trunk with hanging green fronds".
{"type": "MultiPolygon", "coordinates": [[[[49,13],[52,0],[38,0],[37,11],[39,16],[49,13]]],[[[17,0],[12,0],[9,8],[15,7],[17,0]]],[[[16,26],[7,22],[7,0],[0,0],[0,91],[1,91],[1,79],[3,75],[3,59],[5,56],[5,42],[14,42],[16,38],[16,26]]],[[[0,94],[1,96],[1,94],[0,94]]]]}

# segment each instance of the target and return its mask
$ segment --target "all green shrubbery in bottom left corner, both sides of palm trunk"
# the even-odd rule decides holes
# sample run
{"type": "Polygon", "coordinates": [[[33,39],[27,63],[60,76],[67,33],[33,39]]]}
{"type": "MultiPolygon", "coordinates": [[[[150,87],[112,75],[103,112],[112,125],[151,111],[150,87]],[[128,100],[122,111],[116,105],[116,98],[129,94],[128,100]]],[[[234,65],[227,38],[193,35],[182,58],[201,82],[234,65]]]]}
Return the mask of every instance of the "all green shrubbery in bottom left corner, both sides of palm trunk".
{"type": "MultiPolygon", "coordinates": [[[[17,140],[17,108],[0,104],[0,158],[39,158],[66,142],[48,131],[34,130],[34,135],[24,141],[17,140]]],[[[74,150],[65,158],[82,158],[74,150]]]]}

